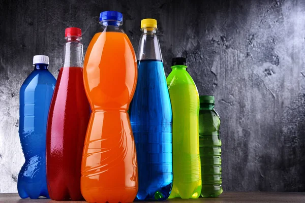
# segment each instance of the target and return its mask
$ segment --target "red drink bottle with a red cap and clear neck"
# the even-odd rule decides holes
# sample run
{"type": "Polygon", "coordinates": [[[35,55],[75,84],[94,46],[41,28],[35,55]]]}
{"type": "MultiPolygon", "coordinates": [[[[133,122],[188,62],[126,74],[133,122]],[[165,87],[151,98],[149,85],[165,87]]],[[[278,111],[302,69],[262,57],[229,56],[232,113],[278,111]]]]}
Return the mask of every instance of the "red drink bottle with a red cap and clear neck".
{"type": "Polygon", "coordinates": [[[46,168],[51,199],[81,200],[80,167],[90,108],[83,84],[81,29],[66,29],[65,60],[47,124],[46,168]]]}

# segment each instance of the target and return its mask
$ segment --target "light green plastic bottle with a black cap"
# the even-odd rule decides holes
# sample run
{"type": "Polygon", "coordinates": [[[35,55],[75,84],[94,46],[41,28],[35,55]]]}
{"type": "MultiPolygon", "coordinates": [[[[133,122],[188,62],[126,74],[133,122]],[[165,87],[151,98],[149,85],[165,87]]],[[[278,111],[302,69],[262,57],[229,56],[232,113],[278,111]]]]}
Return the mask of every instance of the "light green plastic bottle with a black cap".
{"type": "Polygon", "coordinates": [[[201,192],[199,94],[186,58],[172,59],[167,86],[173,112],[173,187],[169,198],[198,198],[201,192]]]}

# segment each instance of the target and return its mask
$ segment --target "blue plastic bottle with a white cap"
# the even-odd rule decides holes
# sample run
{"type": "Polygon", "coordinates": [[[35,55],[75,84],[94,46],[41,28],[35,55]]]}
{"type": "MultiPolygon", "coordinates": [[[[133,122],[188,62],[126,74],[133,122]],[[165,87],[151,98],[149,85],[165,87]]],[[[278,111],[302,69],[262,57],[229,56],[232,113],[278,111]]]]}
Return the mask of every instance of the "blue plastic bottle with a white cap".
{"type": "Polygon", "coordinates": [[[46,180],[46,127],[56,80],[48,71],[49,57],[33,58],[34,71],[20,88],[19,137],[25,163],[18,176],[21,198],[49,198],[46,180]]]}

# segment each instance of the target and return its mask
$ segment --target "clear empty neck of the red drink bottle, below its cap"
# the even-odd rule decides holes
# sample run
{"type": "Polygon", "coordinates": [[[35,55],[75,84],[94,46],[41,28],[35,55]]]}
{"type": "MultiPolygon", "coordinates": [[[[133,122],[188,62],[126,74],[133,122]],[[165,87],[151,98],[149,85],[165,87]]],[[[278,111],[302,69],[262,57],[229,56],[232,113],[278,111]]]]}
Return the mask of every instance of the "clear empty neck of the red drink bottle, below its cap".
{"type": "Polygon", "coordinates": [[[83,46],[81,37],[66,37],[65,59],[63,67],[82,67],[84,63],[83,46]]]}

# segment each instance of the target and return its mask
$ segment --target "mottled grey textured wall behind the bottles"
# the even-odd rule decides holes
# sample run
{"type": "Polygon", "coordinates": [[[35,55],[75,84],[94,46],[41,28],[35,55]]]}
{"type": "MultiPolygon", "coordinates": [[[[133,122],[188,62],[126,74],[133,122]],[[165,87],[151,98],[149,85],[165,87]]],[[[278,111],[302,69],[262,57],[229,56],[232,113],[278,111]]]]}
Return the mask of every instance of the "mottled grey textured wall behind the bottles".
{"type": "Polygon", "coordinates": [[[18,92],[33,55],[57,76],[65,28],[82,29],[85,51],[105,10],[123,13],[135,49],[141,19],[156,18],[166,74],[186,56],[199,93],[216,96],[224,190],[304,191],[304,1],[0,2],[0,192],[17,192],[18,92]]]}

